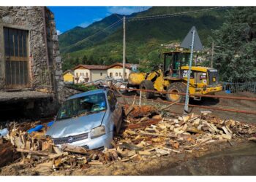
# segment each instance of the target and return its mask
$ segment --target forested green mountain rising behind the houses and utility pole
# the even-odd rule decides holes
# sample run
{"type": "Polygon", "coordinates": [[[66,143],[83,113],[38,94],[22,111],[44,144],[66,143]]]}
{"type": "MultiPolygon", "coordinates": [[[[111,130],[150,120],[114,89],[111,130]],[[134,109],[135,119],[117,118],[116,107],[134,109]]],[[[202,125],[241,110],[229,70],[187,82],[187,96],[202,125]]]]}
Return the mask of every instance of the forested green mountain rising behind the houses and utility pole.
{"type": "MultiPolygon", "coordinates": [[[[195,25],[203,45],[206,45],[212,30],[218,29],[228,9],[214,9],[207,12],[186,14],[176,17],[148,18],[147,20],[132,20],[129,17],[145,17],[151,15],[173,14],[190,12],[209,7],[151,7],[144,12],[127,16],[127,62],[139,63],[140,60],[158,59],[161,44],[173,41],[182,41],[189,29],[195,25]]],[[[123,28],[122,21],[106,31],[102,29],[120,20],[123,15],[113,14],[95,22],[89,27],[76,27],[59,36],[61,55],[64,59],[64,69],[75,62],[86,63],[86,55],[90,62],[95,64],[110,64],[122,60],[123,28]],[[86,39],[94,33],[97,36],[86,39]],[[74,62],[74,59],[77,61],[74,62]]]]}

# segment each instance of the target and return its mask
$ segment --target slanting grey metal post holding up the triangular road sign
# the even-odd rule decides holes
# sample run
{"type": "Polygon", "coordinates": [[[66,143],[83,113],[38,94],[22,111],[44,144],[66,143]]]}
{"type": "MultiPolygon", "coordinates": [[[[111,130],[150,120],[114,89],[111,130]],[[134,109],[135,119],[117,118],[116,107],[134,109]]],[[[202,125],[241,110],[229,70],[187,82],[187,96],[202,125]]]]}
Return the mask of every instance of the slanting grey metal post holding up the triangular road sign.
{"type": "Polygon", "coordinates": [[[189,83],[190,83],[190,73],[193,59],[193,50],[194,50],[194,41],[195,41],[195,29],[192,31],[192,44],[191,44],[191,52],[190,52],[190,60],[189,60],[189,72],[187,74],[187,91],[186,91],[186,100],[184,106],[184,115],[187,114],[189,110],[189,83]]]}

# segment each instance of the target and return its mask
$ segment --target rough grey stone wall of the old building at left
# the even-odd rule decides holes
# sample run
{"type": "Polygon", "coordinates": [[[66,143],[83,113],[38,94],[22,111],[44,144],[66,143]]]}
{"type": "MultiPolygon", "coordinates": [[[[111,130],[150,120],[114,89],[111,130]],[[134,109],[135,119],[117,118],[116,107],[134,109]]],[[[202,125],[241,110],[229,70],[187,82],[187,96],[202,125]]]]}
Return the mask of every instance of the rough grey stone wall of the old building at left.
{"type": "Polygon", "coordinates": [[[30,87],[47,87],[58,102],[63,100],[64,82],[53,13],[45,7],[0,7],[0,90],[4,90],[5,80],[4,27],[29,31],[30,87]]]}

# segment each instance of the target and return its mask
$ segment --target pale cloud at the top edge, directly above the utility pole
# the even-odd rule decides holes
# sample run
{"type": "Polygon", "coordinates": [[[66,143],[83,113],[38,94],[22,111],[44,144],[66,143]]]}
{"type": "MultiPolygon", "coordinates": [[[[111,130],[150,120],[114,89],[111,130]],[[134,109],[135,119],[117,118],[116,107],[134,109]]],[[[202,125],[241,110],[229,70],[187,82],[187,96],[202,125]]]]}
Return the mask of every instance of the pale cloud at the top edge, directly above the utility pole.
{"type": "Polygon", "coordinates": [[[134,12],[142,12],[150,7],[108,7],[108,12],[121,15],[131,15],[134,12]]]}

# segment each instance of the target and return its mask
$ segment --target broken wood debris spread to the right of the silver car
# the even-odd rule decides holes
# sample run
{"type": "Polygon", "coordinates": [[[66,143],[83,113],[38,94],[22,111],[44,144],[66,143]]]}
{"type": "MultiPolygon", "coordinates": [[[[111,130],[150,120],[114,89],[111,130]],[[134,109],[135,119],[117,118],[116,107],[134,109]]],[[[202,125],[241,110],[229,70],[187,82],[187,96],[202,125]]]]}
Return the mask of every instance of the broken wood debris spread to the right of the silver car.
{"type": "Polygon", "coordinates": [[[256,127],[233,120],[200,115],[165,118],[152,106],[125,106],[124,131],[116,139],[115,149],[122,161],[160,157],[172,152],[192,152],[206,143],[229,142],[241,136],[255,135],[256,127]]]}

